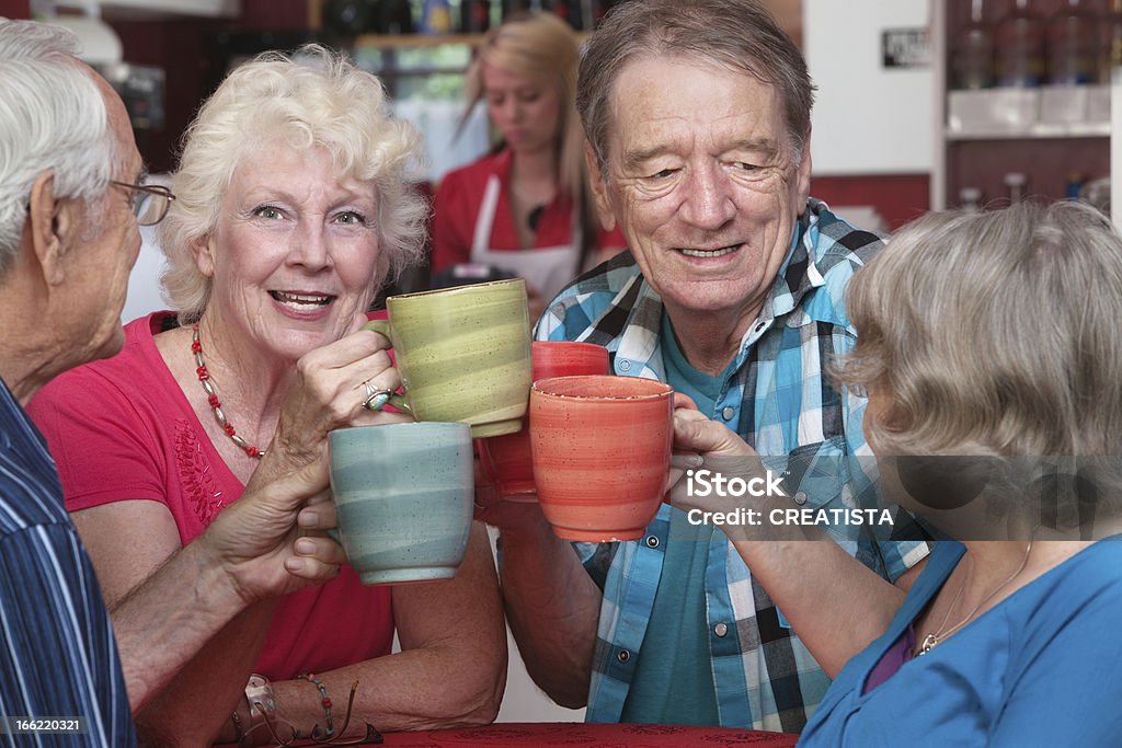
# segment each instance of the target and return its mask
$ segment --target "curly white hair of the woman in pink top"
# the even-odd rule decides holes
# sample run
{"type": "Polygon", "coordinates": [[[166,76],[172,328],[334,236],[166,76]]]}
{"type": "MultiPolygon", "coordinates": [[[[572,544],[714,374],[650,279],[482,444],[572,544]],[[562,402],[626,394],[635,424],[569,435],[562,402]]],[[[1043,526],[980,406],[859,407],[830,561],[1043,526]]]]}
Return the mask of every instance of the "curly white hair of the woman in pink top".
{"type": "Polygon", "coordinates": [[[390,116],[381,82],[319,45],[292,57],[264,53],[227,76],[184,136],[176,200],[157,229],[168,261],[162,280],[182,323],[196,320],[210,301],[211,280],[192,248],[213,232],[239,166],[274,138],[323,148],[341,176],[374,185],[381,248],[376,283],[422,257],[429,205],[406,181],[421,157],[420,136],[390,116]]]}

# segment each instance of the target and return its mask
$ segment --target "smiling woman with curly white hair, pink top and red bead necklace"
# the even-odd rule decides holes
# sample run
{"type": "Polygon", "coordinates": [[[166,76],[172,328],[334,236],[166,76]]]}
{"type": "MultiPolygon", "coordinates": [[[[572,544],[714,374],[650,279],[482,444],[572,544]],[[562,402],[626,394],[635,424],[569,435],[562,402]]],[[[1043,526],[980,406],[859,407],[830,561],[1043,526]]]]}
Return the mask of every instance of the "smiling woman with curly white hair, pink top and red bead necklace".
{"type": "MultiPolygon", "coordinates": [[[[175,312],[130,323],[120,355],[31,407],[110,607],[247,488],[322,459],[330,431],[405,419],[370,409],[368,393],[401,378],[362,324],[423,247],[426,206],[406,183],[417,153],[380,82],[321,47],[242,65],[202,108],[160,224],[175,312]]],[[[137,722],[191,745],[486,723],[505,673],[476,526],[453,580],[362,587],[343,567],[252,604],[137,722]]]]}

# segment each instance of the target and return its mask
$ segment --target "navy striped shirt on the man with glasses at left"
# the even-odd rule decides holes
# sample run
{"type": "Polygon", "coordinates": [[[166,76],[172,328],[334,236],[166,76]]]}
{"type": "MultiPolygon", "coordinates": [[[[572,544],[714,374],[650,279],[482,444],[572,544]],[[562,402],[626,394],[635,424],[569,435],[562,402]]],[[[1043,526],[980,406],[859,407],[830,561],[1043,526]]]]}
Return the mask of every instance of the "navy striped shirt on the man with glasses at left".
{"type": "MultiPolygon", "coordinates": [[[[0,381],[0,717],[81,717],[85,735],[0,745],[135,746],[117,643],[46,442],[0,381]]],[[[12,727],[11,724],[8,726],[12,727]]]]}

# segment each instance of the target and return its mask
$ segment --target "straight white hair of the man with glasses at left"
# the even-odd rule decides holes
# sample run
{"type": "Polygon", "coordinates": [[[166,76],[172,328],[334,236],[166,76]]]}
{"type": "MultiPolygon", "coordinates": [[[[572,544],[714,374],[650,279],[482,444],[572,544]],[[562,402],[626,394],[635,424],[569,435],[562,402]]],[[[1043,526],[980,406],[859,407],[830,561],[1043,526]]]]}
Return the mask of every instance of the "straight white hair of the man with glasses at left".
{"type": "MultiPolygon", "coordinates": [[[[112,178],[118,148],[105,100],[77,50],[67,29],[0,19],[0,274],[13,261],[40,174],[54,174],[56,197],[88,204],[112,178]]],[[[99,212],[89,213],[86,230],[96,234],[99,212]]]]}

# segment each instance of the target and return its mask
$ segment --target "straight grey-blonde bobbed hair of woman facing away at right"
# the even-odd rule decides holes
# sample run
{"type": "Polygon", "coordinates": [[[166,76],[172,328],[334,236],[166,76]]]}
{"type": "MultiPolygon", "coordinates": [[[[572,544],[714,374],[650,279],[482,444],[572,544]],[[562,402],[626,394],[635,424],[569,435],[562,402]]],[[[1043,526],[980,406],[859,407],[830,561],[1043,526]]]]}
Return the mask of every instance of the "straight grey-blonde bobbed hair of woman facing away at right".
{"type": "Polygon", "coordinates": [[[928,214],[846,303],[834,373],[889,397],[882,454],[1122,454],[1122,237],[1094,209],[928,214]]]}

